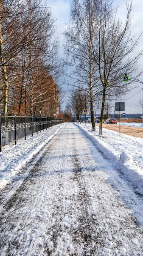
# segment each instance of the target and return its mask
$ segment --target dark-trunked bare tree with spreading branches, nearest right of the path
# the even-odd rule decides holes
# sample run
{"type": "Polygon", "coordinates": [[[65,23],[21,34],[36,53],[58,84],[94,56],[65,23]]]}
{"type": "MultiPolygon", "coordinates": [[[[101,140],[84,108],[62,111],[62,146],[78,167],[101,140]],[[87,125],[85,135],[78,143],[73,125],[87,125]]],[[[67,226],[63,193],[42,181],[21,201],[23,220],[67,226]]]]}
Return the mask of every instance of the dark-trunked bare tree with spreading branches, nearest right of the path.
{"type": "MultiPolygon", "coordinates": [[[[132,80],[137,79],[137,61],[143,51],[135,57],[131,54],[137,46],[137,40],[131,37],[132,3],[126,6],[126,22],[117,17],[118,9],[109,0],[98,1],[96,11],[95,34],[92,44],[93,59],[98,67],[98,77],[102,86],[102,108],[99,134],[102,134],[102,120],[106,97],[116,97],[128,91],[131,83],[123,82],[123,75],[128,73],[132,80]]],[[[140,34],[142,35],[142,33],[140,34]]]]}

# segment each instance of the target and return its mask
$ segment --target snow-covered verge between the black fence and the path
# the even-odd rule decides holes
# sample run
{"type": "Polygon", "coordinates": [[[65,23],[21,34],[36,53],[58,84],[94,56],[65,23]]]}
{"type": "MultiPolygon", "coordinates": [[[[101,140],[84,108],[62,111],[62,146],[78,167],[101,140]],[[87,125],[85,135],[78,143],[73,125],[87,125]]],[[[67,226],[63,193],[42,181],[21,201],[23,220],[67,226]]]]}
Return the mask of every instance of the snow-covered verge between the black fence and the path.
{"type": "Polygon", "coordinates": [[[64,124],[50,127],[26,140],[18,140],[17,145],[3,147],[0,153],[0,190],[53,138],[62,125],[64,124]]]}

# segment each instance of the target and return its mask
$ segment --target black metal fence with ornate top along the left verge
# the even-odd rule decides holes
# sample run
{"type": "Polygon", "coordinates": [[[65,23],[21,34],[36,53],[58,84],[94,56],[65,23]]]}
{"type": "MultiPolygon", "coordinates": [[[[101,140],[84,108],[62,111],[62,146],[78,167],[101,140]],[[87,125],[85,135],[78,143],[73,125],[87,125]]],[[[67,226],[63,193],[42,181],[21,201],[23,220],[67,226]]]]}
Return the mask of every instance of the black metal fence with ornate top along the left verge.
{"type": "Polygon", "coordinates": [[[2,147],[17,140],[25,138],[28,135],[33,136],[40,131],[63,123],[61,118],[38,117],[38,116],[4,116],[0,115],[0,152],[2,147]]]}

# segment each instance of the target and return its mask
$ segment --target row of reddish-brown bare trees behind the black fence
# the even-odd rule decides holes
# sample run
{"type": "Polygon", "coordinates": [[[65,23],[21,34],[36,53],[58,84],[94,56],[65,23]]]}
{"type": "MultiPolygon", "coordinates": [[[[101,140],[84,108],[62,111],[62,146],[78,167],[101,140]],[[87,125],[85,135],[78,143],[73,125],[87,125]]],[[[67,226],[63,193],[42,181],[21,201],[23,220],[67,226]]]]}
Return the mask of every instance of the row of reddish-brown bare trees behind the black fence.
{"type": "Polygon", "coordinates": [[[41,0],[0,0],[0,110],[59,113],[60,73],[54,20],[41,0]]]}

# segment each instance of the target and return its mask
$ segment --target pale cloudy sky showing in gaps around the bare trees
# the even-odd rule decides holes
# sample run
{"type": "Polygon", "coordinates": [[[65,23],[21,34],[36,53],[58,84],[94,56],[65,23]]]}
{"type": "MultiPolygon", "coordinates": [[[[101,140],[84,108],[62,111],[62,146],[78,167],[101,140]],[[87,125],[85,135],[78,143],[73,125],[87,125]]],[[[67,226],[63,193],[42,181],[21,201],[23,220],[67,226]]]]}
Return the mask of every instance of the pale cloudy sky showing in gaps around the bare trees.
{"type": "MultiPolygon", "coordinates": [[[[43,0],[44,2],[44,0],[43,0]]],[[[47,0],[48,7],[51,8],[53,18],[56,20],[55,24],[57,26],[56,33],[59,36],[59,40],[62,45],[63,36],[62,32],[64,31],[64,24],[69,19],[70,15],[70,0],[47,0]]],[[[125,20],[126,17],[126,0],[115,0],[115,5],[120,6],[118,15],[122,20],[125,20]]],[[[143,30],[143,0],[133,0],[133,10],[132,10],[132,35],[138,36],[143,30]]],[[[143,49],[143,37],[140,38],[140,43],[137,46],[136,52],[140,49],[143,49]]],[[[140,69],[143,70],[143,57],[140,58],[140,69]]],[[[140,80],[143,81],[143,76],[140,76],[140,80]]],[[[126,113],[138,113],[136,105],[138,104],[139,99],[142,99],[143,90],[140,93],[137,93],[143,88],[142,84],[136,83],[139,88],[131,90],[131,92],[123,97],[125,99],[125,111],[126,113]],[[137,93],[135,96],[131,97],[137,93]],[[130,99],[128,99],[131,97],[130,99]],[[127,99],[127,100],[126,100],[127,99]]],[[[120,100],[119,100],[120,101],[120,100]]],[[[64,105],[68,102],[67,97],[65,97],[64,105]]],[[[115,103],[113,102],[113,105],[115,103]]],[[[64,110],[64,109],[63,109],[64,110]]]]}

